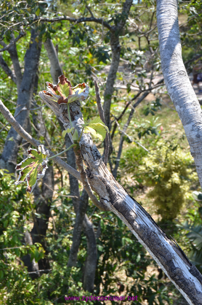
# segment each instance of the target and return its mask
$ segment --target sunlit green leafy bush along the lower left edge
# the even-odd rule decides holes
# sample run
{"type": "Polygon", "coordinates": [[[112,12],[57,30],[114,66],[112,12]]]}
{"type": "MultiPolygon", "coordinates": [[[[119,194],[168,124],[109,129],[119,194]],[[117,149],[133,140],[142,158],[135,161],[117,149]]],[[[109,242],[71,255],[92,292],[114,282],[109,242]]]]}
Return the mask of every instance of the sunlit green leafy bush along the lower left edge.
{"type": "Polygon", "coordinates": [[[25,221],[30,216],[30,197],[21,185],[15,186],[11,174],[0,170],[0,303],[32,304],[35,284],[20,257],[29,254],[38,261],[44,256],[40,244],[23,243],[25,221]]]}

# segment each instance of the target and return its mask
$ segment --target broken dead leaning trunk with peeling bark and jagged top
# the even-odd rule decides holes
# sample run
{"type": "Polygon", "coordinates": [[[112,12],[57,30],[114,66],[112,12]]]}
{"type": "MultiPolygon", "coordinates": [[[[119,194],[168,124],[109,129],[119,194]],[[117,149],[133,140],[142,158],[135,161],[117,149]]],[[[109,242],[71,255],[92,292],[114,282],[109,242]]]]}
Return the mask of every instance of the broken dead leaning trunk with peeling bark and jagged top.
{"type": "MultiPolygon", "coordinates": [[[[68,125],[67,105],[48,102],[65,126],[68,125]]],[[[72,124],[81,132],[83,116],[80,103],[70,103],[72,124]]],[[[147,249],[157,264],[179,289],[189,304],[202,305],[202,275],[187,259],[186,255],[158,227],[150,215],[114,179],[103,163],[102,157],[88,134],[80,140],[82,158],[87,165],[86,174],[91,188],[99,195],[106,210],[114,212],[147,249]]]]}

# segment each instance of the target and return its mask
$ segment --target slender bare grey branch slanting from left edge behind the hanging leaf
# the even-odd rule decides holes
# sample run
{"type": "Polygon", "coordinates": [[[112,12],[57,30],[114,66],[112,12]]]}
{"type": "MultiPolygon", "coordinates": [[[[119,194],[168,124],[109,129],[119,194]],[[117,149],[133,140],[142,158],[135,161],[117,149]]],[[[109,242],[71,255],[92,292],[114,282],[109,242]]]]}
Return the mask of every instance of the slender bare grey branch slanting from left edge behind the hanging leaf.
{"type": "MultiPolygon", "coordinates": [[[[0,99],[0,111],[5,117],[5,119],[12,125],[12,127],[15,129],[15,131],[27,142],[29,142],[34,147],[38,148],[41,143],[34,139],[31,135],[27,133],[23,129],[23,127],[15,120],[15,118],[10,113],[9,109],[6,108],[6,106],[2,103],[0,99]]],[[[44,146],[44,149],[47,150],[47,148],[44,146]]],[[[55,154],[49,150],[49,156],[55,156],[55,154]]],[[[75,170],[73,167],[71,167],[69,164],[65,163],[63,160],[60,159],[60,157],[55,157],[53,161],[58,165],[61,166],[64,170],[67,170],[72,176],[77,178],[78,180],[81,180],[81,175],[77,170],[75,170]]]]}

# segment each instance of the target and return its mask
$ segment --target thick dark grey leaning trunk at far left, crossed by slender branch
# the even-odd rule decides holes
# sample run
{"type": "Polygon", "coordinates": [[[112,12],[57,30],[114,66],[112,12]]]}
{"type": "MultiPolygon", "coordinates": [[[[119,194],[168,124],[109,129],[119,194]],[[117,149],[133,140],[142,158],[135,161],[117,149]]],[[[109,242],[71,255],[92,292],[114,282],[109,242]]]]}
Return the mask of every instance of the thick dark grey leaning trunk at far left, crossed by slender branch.
{"type": "MultiPolygon", "coordinates": [[[[25,107],[25,109],[21,111],[17,116],[17,121],[25,129],[28,123],[28,109],[31,106],[31,99],[34,90],[34,80],[36,77],[38,61],[41,51],[41,42],[37,42],[35,40],[36,37],[37,34],[34,30],[32,30],[30,38],[31,43],[25,55],[24,73],[18,91],[18,99],[15,111],[16,115],[23,107],[25,107]]],[[[2,156],[0,159],[0,167],[9,170],[10,173],[14,173],[15,171],[15,166],[17,163],[17,152],[21,141],[21,136],[13,129],[13,127],[11,127],[8,132],[2,156]],[[12,138],[12,140],[10,138],[12,138]]]]}

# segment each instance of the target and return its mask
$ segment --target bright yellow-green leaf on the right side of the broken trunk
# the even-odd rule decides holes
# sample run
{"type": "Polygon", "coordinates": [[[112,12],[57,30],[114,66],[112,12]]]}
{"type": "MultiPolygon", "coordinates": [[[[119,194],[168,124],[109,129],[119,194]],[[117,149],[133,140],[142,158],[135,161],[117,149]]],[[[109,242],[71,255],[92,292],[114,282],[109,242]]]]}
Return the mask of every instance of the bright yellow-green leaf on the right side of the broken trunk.
{"type": "Polygon", "coordinates": [[[83,124],[84,133],[91,133],[95,138],[104,141],[106,137],[106,132],[109,133],[108,127],[103,123],[103,121],[97,117],[96,119],[90,121],[87,124],[83,124]]]}

